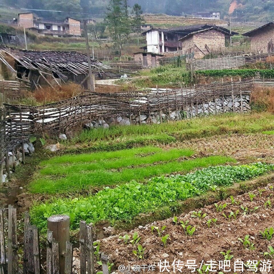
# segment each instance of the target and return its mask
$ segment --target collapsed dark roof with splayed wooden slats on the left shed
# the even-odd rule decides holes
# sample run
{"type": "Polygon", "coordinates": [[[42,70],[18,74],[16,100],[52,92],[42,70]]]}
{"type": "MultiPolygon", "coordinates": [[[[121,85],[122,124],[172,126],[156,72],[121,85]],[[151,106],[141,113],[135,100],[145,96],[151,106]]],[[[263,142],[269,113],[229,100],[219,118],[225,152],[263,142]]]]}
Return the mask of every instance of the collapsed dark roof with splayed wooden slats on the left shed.
{"type": "MultiPolygon", "coordinates": [[[[51,70],[63,75],[70,72],[75,75],[88,73],[87,56],[76,51],[27,51],[7,46],[0,46],[0,60],[5,63],[1,52],[13,57],[19,65],[30,70],[51,70]]],[[[111,69],[103,63],[91,59],[92,69],[102,71],[111,69]]]]}

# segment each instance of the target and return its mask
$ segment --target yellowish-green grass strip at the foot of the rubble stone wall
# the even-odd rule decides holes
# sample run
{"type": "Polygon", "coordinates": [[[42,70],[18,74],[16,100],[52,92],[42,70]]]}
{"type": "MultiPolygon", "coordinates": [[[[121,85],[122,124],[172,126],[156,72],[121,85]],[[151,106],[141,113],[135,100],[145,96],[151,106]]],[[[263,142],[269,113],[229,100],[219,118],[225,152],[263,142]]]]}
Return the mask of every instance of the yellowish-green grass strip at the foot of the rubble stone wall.
{"type": "Polygon", "coordinates": [[[68,151],[116,150],[227,133],[257,133],[273,128],[274,115],[270,113],[225,114],[172,123],[84,130],[69,142],[64,142],[64,146],[68,151]]]}

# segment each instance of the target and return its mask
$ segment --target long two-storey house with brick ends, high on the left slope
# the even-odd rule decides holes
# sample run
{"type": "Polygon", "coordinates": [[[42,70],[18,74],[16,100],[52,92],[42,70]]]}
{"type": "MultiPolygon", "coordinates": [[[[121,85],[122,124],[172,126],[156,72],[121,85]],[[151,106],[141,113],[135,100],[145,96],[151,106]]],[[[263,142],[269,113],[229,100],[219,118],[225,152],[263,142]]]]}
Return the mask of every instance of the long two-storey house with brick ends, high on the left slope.
{"type": "Polygon", "coordinates": [[[17,25],[36,31],[40,35],[81,36],[80,21],[70,17],[64,21],[57,21],[39,18],[33,13],[19,13],[17,25]]]}

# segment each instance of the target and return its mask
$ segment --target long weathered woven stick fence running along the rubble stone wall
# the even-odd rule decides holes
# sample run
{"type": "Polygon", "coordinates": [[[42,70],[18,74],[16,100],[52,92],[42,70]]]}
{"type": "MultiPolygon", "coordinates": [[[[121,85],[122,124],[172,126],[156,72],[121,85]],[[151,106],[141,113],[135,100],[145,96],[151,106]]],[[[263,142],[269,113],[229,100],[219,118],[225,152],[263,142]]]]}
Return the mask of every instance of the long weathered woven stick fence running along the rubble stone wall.
{"type": "MultiPolygon", "coordinates": [[[[6,165],[8,165],[8,152],[17,146],[23,146],[23,143],[27,142],[35,132],[65,133],[73,126],[96,119],[119,115],[140,115],[141,113],[150,115],[153,111],[165,109],[169,112],[174,109],[183,110],[188,104],[207,103],[210,98],[218,96],[249,94],[253,90],[253,85],[253,80],[247,80],[197,85],[178,90],[152,89],[120,93],[86,92],[44,106],[3,104],[3,107],[0,107],[0,164],[2,164],[0,173],[3,172],[4,156],[6,165]]],[[[24,154],[23,148],[22,153],[24,154]]]]}

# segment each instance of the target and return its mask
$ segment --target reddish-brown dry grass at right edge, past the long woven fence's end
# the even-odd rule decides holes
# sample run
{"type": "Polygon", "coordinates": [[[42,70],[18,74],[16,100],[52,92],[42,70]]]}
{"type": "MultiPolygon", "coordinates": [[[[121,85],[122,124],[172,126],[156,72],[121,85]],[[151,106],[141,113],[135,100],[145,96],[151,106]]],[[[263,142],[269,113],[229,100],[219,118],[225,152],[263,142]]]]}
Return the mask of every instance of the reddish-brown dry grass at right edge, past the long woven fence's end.
{"type": "Polygon", "coordinates": [[[255,90],[251,94],[251,102],[254,110],[267,110],[274,113],[274,88],[255,87],[255,90]]]}

